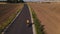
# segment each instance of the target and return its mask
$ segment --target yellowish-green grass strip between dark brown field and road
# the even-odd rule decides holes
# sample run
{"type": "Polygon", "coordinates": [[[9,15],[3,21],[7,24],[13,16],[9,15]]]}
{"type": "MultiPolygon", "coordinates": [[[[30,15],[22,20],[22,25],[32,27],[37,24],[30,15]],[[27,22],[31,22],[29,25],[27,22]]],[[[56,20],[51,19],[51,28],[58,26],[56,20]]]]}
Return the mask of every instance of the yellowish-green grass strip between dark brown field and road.
{"type": "Polygon", "coordinates": [[[11,16],[2,24],[0,25],[0,34],[2,31],[12,22],[12,20],[16,17],[16,15],[21,12],[22,9],[17,10],[16,13],[11,14],[11,16]]]}

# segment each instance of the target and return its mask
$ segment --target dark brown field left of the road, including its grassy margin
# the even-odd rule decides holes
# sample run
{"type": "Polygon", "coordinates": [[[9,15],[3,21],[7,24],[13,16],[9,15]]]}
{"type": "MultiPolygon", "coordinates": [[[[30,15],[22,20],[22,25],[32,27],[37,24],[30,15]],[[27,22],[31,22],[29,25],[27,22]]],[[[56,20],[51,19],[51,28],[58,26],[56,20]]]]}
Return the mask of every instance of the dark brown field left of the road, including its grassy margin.
{"type": "Polygon", "coordinates": [[[22,3],[0,4],[0,32],[13,20],[22,7],[22,3]]]}

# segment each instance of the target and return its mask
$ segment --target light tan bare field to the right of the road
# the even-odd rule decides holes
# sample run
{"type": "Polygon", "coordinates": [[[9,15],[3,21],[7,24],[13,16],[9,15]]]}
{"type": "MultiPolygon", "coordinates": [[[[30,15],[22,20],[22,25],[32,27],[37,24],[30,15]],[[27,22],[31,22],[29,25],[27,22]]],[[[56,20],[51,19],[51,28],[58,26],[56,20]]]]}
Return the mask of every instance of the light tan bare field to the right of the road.
{"type": "Polygon", "coordinates": [[[45,25],[46,34],[60,34],[59,3],[29,3],[34,9],[41,24],[45,25]]]}

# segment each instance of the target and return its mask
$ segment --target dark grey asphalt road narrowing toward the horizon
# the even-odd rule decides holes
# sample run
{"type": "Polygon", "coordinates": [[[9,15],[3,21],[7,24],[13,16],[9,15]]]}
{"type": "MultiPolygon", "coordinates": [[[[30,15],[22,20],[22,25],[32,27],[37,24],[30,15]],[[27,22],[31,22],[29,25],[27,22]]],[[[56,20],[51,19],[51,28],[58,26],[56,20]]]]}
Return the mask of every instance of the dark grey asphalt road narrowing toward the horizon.
{"type": "Polygon", "coordinates": [[[31,23],[30,12],[28,6],[25,4],[19,16],[4,34],[33,34],[32,26],[27,26],[27,20],[31,23]]]}

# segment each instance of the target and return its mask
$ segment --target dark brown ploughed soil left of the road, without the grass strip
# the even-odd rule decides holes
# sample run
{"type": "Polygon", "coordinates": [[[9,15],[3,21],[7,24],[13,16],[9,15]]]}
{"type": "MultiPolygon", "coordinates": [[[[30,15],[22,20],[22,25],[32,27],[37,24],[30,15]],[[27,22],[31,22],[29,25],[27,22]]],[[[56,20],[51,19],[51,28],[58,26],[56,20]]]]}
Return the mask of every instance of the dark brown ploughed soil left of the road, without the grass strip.
{"type": "Polygon", "coordinates": [[[0,4],[0,25],[2,25],[12,14],[22,9],[23,4],[0,4]]]}

